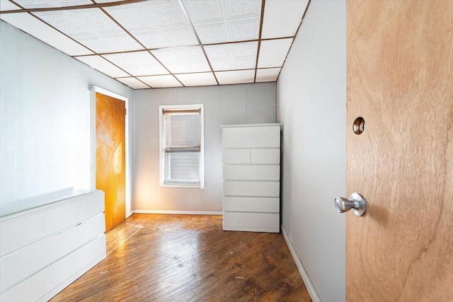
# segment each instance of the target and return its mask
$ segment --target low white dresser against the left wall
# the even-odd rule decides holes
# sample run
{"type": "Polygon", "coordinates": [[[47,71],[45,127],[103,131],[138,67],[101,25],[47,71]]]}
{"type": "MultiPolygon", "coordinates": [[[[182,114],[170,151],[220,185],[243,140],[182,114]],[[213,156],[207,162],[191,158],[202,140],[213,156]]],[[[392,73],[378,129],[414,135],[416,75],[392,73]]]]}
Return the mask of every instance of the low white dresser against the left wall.
{"type": "Polygon", "coordinates": [[[7,206],[0,208],[0,301],[47,301],[105,258],[102,191],[7,206]]]}

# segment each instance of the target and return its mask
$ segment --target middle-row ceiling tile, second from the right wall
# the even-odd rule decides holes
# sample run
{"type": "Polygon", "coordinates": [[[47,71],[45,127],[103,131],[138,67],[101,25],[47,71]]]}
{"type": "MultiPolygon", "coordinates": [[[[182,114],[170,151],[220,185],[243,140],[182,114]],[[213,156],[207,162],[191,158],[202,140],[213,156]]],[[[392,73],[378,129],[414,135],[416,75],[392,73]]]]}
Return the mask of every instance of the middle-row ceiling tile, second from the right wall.
{"type": "Polygon", "coordinates": [[[205,46],[214,71],[255,68],[257,49],[258,42],[205,46]]]}

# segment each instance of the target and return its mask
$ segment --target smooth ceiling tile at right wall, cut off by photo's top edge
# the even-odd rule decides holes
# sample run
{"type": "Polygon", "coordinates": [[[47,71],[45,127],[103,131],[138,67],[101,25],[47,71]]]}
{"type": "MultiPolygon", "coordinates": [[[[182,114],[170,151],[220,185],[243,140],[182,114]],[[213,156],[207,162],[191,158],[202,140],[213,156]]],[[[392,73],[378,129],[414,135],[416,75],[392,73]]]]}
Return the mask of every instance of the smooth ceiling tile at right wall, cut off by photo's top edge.
{"type": "Polygon", "coordinates": [[[266,0],[261,37],[294,36],[308,2],[308,0],[266,0]]]}

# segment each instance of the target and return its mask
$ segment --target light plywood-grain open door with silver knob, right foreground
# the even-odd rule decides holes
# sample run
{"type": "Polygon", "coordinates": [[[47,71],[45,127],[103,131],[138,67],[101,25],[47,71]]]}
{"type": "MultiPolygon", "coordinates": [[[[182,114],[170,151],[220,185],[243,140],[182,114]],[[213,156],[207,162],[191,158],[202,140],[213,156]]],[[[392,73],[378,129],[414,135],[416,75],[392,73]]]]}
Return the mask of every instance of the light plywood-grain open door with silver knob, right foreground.
{"type": "Polygon", "coordinates": [[[347,18],[347,191],[369,203],[347,214],[347,300],[453,301],[453,1],[347,18]]]}

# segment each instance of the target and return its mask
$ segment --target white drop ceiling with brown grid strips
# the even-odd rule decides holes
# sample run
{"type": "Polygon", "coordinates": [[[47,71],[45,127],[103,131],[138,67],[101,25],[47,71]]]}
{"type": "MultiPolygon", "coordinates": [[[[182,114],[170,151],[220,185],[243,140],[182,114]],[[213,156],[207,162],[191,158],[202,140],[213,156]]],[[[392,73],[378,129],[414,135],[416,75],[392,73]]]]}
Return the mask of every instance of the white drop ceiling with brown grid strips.
{"type": "Polygon", "coordinates": [[[0,19],[134,89],[210,86],[276,81],[308,4],[0,0],[0,19]]]}

